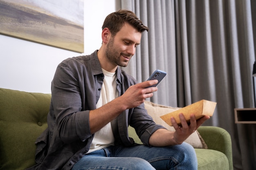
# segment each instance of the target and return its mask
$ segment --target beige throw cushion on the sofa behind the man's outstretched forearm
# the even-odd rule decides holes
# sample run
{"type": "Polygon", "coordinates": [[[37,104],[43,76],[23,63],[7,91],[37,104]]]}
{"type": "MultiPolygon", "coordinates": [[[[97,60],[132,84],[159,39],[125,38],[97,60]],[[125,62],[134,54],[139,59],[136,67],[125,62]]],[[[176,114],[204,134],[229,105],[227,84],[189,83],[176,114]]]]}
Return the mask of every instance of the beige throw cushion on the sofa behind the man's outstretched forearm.
{"type": "MultiPolygon", "coordinates": [[[[156,124],[160,124],[167,128],[168,130],[174,131],[173,126],[169,126],[166,122],[160,118],[160,116],[165,115],[167,113],[171,113],[179,108],[173,108],[169,106],[164,106],[160,104],[155,104],[153,102],[145,101],[145,108],[148,111],[148,115],[150,115],[156,124]]],[[[207,149],[207,145],[204,140],[200,136],[199,132],[196,130],[193,132],[186,140],[186,143],[191,144],[194,148],[204,148],[207,149]]]]}

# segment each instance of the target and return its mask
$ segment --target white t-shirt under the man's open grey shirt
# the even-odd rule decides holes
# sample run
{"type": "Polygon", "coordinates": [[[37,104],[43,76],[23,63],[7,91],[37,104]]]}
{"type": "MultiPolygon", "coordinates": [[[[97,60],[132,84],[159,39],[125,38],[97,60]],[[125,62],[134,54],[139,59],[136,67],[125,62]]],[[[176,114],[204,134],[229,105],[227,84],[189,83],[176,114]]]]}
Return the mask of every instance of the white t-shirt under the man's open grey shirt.
{"type": "MultiPolygon", "coordinates": [[[[116,73],[110,73],[103,68],[102,71],[104,74],[104,80],[101,88],[101,95],[96,104],[96,108],[99,108],[118,97],[116,73]]],[[[101,130],[95,133],[92,140],[92,145],[87,153],[114,145],[114,141],[115,138],[111,123],[109,122],[106,126],[101,128],[101,130]]]]}

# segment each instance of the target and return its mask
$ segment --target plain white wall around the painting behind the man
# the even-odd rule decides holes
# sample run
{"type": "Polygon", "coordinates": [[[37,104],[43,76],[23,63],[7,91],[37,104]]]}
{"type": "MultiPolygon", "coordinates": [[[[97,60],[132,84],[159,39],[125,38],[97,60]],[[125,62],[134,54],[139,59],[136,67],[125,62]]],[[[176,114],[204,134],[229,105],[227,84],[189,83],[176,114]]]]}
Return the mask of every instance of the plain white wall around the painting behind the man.
{"type": "Polygon", "coordinates": [[[0,34],[0,88],[51,93],[57,65],[68,57],[91,54],[101,46],[105,17],[115,0],[84,0],[84,53],[76,53],[0,34]]]}

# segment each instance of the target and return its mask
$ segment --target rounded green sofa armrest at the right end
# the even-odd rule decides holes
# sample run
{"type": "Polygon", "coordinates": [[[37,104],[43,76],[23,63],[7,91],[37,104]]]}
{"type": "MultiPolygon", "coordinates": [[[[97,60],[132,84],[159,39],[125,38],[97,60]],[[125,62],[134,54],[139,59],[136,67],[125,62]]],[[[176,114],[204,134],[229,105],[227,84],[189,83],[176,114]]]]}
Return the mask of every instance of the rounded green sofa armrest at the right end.
{"type": "Polygon", "coordinates": [[[216,126],[200,126],[198,132],[204,139],[208,149],[224,153],[229,160],[229,169],[233,170],[232,145],[229,133],[216,126]]]}

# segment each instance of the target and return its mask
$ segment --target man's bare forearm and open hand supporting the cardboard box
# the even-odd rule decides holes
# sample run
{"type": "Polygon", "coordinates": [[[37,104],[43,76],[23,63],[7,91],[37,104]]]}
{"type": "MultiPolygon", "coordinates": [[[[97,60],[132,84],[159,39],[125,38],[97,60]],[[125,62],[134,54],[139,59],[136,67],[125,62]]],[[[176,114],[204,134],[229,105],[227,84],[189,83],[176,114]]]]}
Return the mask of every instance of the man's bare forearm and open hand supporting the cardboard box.
{"type": "Polygon", "coordinates": [[[182,113],[179,115],[182,126],[180,127],[176,120],[172,117],[171,122],[175,128],[174,132],[167,129],[156,130],[149,138],[149,144],[152,146],[172,146],[182,144],[195,130],[201,126],[204,121],[209,119],[209,116],[204,116],[198,120],[195,119],[195,115],[190,115],[190,124],[186,122],[186,119],[182,113]]]}

